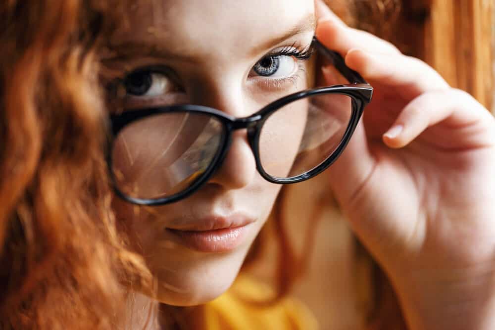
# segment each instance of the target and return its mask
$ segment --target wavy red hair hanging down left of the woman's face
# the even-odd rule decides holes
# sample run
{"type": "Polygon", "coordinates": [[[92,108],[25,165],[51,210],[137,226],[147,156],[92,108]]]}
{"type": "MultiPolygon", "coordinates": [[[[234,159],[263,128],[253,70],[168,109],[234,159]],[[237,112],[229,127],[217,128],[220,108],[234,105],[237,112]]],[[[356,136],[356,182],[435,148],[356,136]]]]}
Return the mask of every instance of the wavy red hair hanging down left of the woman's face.
{"type": "Polygon", "coordinates": [[[0,4],[0,329],[108,329],[122,282],[149,280],[109,208],[95,54],[111,2],[0,4]]]}

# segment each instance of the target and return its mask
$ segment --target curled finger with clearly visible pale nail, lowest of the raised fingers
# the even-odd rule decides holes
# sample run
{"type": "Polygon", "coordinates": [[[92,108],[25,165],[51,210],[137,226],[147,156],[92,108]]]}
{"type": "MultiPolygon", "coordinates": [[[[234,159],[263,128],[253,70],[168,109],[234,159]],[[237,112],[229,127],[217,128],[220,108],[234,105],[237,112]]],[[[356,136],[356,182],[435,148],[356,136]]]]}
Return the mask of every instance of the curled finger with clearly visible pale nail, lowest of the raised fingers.
{"type": "MultiPolygon", "coordinates": [[[[448,145],[444,145],[445,147],[457,149],[485,146],[484,141],[489,141],[486,139],[486,132],[493,131],[488,126],[494,126],[493,116],[471,95],[456,89],[437,90],[412,100],[383,135],[383,141],[391,148],[401,148],[415,140],[428,127],[441,122],[450,132],[462,130],[462,136],[441,135],[435,142],[446,141],[448,145]]],[[[448,131],[445,132],[448,134],[448,131]]]]}

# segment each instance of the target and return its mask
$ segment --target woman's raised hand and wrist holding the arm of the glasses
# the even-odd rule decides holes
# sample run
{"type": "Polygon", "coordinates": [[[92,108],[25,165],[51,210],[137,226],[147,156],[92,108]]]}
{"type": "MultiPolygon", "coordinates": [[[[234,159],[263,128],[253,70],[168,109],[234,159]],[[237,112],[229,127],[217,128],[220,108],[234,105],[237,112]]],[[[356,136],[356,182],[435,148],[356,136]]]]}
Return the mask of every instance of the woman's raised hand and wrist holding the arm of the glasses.
{"type": "Polygon", "coordinates": [[[329,169],[353,231],[411,329],[495,329],[493,116],[424,62],[347,27],[320,1],[317,11],[318,39],[375,88],[329,169]]]}

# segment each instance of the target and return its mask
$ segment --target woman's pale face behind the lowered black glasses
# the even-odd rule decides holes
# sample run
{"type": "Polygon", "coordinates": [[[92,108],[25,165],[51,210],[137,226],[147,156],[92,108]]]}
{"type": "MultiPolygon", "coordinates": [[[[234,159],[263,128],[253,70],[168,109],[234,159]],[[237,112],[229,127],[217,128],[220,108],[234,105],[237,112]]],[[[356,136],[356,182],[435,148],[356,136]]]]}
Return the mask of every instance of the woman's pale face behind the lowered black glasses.
{"type": "MultiPolygon", "coordinates": [[[[132,77],[116,93],[123,108],[187,101],[245,117],[309,85],[304,51],[315,29],[311,0],[136,3],[128,7],[104,61],[109,79],[132,77]]],[[[284,142],[264,152],[267,164],[278,166],[274,171],[279,174],[290,170],[305,116],[304,111],[286,111],[273,127],[278,134],[266,130],[269,141],[284,142]]],[[[204,121],[179,116],[149,118],[154,134],[129,130],[114,154],[124,159],[121,170],[132,171],[140,178],[135,180],[142,181],[139,185],[165,185],[167,179],[148,168],[183,124],[189,125],[181,128],[190,132],[187,137],[197,137],[205,126],[204,121]],[[157,136],[160,128],[163,135],[157,136]]],[[[182,135],[183,143],[190,143],[187,137],[182,135]]],[[[280,188],[258,174],[246,130],[240,130],[221,168],[190,197],[159,207],[115,198],[114,205],[119,223],[157,279],[158,298],[193,305],[215,298],[233,282],[280,188]]]]}

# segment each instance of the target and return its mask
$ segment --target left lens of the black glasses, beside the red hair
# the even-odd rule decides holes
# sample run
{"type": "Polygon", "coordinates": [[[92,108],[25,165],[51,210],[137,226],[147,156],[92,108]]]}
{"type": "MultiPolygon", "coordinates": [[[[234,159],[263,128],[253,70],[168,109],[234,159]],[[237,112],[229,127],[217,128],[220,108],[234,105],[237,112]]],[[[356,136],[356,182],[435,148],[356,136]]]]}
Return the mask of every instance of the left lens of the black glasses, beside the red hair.
{"type": "Polygon", "coordinates": [[[206,171],[224,136],[223,124],[207,114],[164,113],[132,122],[113,143],[116,185],[134,198],[177,194],[206,171]]]}

